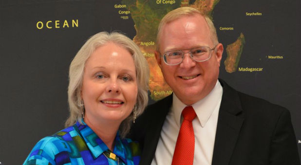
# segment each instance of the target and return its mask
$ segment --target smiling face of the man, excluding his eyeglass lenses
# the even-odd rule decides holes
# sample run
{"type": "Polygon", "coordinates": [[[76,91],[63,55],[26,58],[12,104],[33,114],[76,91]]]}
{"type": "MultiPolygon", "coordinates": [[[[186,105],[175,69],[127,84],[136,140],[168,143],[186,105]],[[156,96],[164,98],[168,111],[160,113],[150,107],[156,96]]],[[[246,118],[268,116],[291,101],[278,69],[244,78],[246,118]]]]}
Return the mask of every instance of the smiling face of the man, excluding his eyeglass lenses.
{"type": "Polygon", "coordinates": [[[175,95],[186,105],[206,97],[215,86],[223,54],[223,45],[213,44],[205,18],[201,15],[184,16],[164,25],[160,39],[160,52],[155,52],[165,81],[175,95]],[[187,53],[189,49],[207,46],[213,49],[205,62],[196,62],[187,53]],[[160,56],[171,50],[184,50],[183,61],[175,66],[164,63],[160,56]]]}

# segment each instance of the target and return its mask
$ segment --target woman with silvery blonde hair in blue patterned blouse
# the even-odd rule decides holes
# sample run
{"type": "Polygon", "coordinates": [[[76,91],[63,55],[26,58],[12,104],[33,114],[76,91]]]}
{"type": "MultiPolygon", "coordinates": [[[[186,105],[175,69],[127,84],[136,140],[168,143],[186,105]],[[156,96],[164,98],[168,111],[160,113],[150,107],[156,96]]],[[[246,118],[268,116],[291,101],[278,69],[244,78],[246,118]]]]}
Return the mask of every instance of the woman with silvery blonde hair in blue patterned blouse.
{"type": "Polygon", "coordinates": [[[92,36],[70,65],[66,129],[41,139],[24,165],[137,165],[137,143],[124,139],[148,102],[148,64],[120,33],[92,36]]]}

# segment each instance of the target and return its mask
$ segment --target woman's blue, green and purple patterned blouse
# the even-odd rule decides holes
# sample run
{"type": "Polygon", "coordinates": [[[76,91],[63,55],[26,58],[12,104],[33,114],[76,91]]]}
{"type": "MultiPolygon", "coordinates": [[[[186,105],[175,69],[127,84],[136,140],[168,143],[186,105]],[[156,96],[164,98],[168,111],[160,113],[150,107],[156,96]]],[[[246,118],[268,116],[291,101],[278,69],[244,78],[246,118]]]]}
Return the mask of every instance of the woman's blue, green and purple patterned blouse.
{"type": "Polygon", "coordinates": [[[138,165],[140,150],[131,139],[115,137],[113,152],[83,122],[41,139],[24,165],[138,165]]]}

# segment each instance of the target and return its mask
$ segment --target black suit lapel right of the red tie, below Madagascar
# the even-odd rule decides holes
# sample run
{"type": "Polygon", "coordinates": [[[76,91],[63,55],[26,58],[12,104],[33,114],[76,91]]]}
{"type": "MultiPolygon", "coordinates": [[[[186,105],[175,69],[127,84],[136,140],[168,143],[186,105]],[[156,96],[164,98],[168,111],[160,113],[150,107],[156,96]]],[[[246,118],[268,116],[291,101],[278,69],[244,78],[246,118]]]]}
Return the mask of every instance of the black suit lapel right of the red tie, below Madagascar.
{"type": "Polygon", "coordinates": [[[212,165],[229,164],[239,132],[244,122],[237,91],[219,80],[223,97],[219,111],[212,165]]]}

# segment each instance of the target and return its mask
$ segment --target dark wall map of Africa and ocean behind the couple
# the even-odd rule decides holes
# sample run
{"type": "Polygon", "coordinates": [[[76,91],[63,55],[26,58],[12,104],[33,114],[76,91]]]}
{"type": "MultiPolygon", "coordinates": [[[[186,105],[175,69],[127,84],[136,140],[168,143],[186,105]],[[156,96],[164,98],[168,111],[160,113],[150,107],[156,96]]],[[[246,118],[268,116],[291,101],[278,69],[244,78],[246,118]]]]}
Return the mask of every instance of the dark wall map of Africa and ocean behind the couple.
{"type": "Polygon", "coordinates": [[[121,31],[151,69],[150,103],[172,93],[154,58],[170,10],[211,16],[224,45],[220,78],[290,110],[301,153],[300,0],[0,0],[0,164],[22,164],[68,115],[68,67],[87,38],[121,31]]]}

